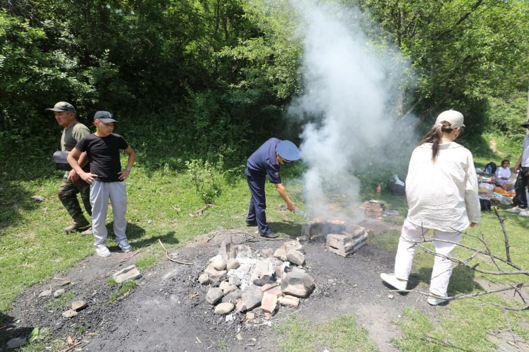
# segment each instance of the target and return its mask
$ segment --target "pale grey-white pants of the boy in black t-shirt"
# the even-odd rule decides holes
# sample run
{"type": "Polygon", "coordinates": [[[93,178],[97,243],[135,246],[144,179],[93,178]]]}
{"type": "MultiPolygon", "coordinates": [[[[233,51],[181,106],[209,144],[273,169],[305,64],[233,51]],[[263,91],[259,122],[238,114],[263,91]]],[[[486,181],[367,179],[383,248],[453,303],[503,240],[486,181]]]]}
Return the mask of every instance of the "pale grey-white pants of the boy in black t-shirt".
{"type": "Polygon", "coordinates": [[[125,230],[125,212],[127,211],[127,192],[125,182],[101,182],[94,180],[90,184],[90,204],[92,205],[92,231],[94,233],[96,247],[106,246],[106,212],[108,210],[108,198],[112,203],[112,214],[114,215],[114,234],[117,243],[127,240],[125,230]]]}

